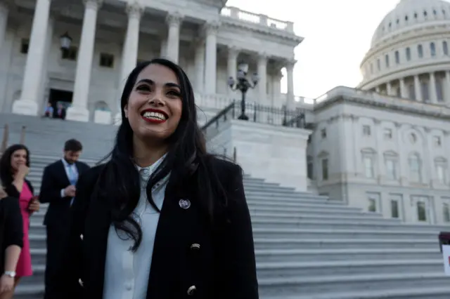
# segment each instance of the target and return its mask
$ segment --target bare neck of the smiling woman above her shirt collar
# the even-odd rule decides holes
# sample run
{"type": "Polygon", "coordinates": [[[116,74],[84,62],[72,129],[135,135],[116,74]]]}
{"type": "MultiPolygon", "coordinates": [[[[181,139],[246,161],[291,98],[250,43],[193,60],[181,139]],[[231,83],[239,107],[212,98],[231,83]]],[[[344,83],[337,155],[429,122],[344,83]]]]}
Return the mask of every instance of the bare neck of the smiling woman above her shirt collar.
{"type": "Polygon", "coordinates": [[[167,145],[144,143],[138,138],[133,138],[133,157],[140,167],[148,167],[158,161],[167,153],[167,145]]]}

